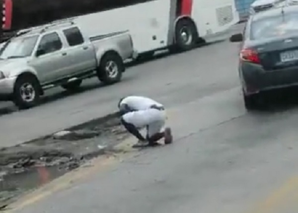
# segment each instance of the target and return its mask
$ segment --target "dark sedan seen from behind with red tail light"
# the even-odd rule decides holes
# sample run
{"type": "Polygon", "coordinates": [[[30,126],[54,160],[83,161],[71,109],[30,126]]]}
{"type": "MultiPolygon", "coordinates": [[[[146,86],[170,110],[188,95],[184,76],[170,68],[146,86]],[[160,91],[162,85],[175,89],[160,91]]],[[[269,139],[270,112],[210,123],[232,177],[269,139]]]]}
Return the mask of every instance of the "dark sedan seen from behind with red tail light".
{"type": "Polygon", "coordinates": [[[298,85],[298,6],[275,8],[249,17],[241,42],[239,77],[246,109],[259,106],[264,91],[298,85]]]}

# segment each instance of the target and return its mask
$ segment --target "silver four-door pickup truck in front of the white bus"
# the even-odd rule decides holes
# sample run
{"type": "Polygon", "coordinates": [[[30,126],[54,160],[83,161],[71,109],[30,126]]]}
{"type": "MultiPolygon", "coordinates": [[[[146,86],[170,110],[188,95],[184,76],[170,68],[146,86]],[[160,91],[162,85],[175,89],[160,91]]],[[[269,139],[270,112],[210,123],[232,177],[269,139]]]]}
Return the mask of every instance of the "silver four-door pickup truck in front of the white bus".
{"type": "Polygon", "coordinates": [[[24,109],[48,88],[76,90],[93,76],[118,82],[133,55],[129,32],[89,37],[72,21],[19,31],[0,49],[0,100],[24,109]]]}

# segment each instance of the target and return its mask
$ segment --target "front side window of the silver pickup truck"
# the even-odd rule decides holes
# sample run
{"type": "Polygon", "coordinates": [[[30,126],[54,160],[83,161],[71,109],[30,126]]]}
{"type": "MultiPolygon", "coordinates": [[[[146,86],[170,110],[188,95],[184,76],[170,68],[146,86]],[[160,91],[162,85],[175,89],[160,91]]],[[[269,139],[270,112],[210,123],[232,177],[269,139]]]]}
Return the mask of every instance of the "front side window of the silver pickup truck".
{"type": "Polygon", "coordinates": [[[57,33],[49,33],[42,37],[40,40],[38,50],[42,50],[41,55],[52,53],[61,50],[62,42],[57,33]]]}

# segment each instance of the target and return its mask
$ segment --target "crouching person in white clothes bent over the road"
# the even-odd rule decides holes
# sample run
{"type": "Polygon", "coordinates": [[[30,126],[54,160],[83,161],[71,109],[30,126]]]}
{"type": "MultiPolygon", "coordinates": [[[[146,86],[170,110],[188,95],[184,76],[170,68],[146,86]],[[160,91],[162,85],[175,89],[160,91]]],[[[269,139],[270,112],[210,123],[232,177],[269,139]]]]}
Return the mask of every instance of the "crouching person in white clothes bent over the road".
{"type": "Polygon", "coordinates": [[[162,138],[165,144],[172,142],[171,129],[164,127],[166,114],[162,104],[147,97],[127,96],[119,101],[118,108],[125,129],[139,139],[134,147],[154,146],[162,138]],[[143,128],[147,128],[146,137],[139,132],[143,128]]]}

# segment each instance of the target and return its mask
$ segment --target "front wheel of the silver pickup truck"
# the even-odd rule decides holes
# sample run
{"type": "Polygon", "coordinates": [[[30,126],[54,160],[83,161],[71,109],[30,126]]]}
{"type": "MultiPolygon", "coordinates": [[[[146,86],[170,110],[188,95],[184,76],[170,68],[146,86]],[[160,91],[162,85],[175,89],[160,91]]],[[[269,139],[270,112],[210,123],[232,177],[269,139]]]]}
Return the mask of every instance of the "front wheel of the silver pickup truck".
{"type": "Polygon", "coordinates": [[[22,75],[17,78],[13,90],[13,102],[19,109],[34,107],[40,100],[39,82],[33,75],[22,75]]]}

